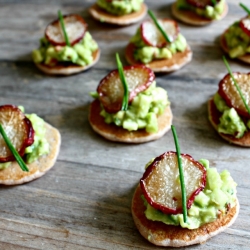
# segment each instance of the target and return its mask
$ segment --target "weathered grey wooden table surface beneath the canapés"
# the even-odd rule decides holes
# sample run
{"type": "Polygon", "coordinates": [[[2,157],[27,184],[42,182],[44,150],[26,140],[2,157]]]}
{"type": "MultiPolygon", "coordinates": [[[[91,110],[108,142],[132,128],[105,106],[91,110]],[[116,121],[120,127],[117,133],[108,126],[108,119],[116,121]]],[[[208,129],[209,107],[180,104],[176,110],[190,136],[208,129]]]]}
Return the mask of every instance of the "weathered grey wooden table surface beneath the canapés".
{"type": "MultiPolygon", "coordinates": [[[[124,145],[106,141],[91,129],[89,92],[116,68],[116,52],[126,65],[124,48],[139,25],[116,27],[93,20],[88,8],[94,2],[0,0],[0,104],[23,105],[62,135],[52,170],[28,184],[0,187],[0,249],[158,248],[139,234],[130,206],[144,165],[175,150],[172,133],[154,142],[124,145]],[[32,62],[31,51],[59,9],[81,14],[101,48],[99,62],[87,72],[48,76],[32,62]]],[[[157,17],[172,17],[173,0],[145,2],[157,17]]],[[[250,249],[250,150],[223,141],[207,118],[207,100],[226,74],[218,38],[245,15],[238,0],[227,2],[229,13],[219,22],[205,27],[180,23],[193,60],[177,72],[156,76],[168,91],[181,151],[208,159],[220,171],[228,169],[238,183],[241,209],[236,222],[192,249],[250,249]]],[[[249,71],[246,64],[229,62],[233,71],[249,71]]]]}

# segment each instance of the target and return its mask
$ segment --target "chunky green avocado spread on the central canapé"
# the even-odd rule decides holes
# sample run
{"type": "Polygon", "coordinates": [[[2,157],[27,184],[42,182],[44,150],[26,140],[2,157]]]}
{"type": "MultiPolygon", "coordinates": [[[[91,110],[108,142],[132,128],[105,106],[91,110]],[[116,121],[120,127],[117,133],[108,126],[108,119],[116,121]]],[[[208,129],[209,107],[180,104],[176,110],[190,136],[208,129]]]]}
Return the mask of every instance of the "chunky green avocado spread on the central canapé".
{"type": "Polygon", "coordinates": [[[140,92],[133,99],[126,111],[110,114],[102,108],[100,115],[104,117],[106,123],[114,123],[129,131],[145,129],[148,133],[156,133],[158,131],[157,117],[169,105],[166,90],[156,87],[154,81],[148,89],[140,92]]]}

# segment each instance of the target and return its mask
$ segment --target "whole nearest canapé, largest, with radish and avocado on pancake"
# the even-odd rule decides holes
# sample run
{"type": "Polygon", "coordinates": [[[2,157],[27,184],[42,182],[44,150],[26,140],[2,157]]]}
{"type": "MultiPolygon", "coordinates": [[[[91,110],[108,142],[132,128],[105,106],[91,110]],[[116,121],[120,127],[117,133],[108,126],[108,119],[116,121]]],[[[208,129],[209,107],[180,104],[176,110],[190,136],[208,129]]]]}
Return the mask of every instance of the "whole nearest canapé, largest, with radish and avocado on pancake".
{"type": "Polygon", "coordinates": [[[133,196],[135,224],[155,245],[203,243],[232,225],[238,216],[236,183],[230,173],[218,173],[204,159],[198,162],[187,154],[180,158],[185,176],[186,222],[175,152],[166,152],[146,165],[133,196]]]}

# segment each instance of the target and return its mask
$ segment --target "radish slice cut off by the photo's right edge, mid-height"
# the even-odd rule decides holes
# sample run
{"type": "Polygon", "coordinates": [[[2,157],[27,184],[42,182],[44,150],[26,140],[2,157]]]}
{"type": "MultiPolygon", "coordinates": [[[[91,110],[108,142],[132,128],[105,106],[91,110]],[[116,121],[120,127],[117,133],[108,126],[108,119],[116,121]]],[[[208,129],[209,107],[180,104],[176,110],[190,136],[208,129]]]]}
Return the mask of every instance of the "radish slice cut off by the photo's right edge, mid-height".
{"type": "MultiPolygon", "coordinates": [[[[233,73],[233,76],[238,83],[246,103],[250,106],[250,73],[246,74],[237,72],[233,73]]],[[[229,107],[235,108],[240,115],[250,118],[250,114],[248,113],[230,74],[227,74],[220,81],[218,93],[226,101],[229,107]]]]}

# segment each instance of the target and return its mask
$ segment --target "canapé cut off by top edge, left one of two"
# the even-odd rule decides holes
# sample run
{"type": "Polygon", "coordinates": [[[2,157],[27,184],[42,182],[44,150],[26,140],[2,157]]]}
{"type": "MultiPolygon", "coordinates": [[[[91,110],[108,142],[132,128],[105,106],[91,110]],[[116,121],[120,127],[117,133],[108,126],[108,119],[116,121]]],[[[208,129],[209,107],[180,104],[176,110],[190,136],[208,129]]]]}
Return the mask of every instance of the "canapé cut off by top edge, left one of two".
{"type": "Polygon", "coordinates": [[[98,21],[128,25],[143,19],[147,6],[143,0],[97,0],[89,12],[98,21]]]}

